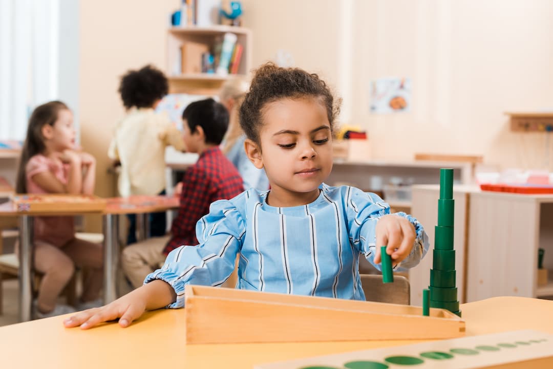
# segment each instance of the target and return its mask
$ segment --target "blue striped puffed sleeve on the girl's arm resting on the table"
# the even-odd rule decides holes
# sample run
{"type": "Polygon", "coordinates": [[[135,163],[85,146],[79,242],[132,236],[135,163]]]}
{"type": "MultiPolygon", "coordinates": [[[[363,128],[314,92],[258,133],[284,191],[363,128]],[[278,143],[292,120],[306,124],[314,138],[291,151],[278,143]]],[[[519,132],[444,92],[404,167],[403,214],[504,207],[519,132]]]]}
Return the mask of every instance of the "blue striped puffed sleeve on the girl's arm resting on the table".
{"type": "Polygon", "coordinates": [[[246,223],[237,208],[243,202],[244,194],[212,203],[209,214],[196,224],[199,245],[182,245],[171,251],[163,267],[145,278],[144,283],[163,280],[173,287],[177,298],[169,308],[184,306],[186,284],[220,286],[231,275],[246,234],[246,223]]]}

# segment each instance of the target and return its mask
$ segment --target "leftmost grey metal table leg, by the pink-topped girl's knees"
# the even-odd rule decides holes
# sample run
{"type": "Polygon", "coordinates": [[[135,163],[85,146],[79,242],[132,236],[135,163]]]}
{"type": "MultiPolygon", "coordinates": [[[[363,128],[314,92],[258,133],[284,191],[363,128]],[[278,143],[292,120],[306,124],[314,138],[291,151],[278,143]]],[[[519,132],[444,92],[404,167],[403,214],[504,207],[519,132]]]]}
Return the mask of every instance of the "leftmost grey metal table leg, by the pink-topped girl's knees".
{"type": "Polygon", "coordinates": [[[20,217],[19,232],[19,321],[31,320],[33,307],[33,217],[20,217]]]}

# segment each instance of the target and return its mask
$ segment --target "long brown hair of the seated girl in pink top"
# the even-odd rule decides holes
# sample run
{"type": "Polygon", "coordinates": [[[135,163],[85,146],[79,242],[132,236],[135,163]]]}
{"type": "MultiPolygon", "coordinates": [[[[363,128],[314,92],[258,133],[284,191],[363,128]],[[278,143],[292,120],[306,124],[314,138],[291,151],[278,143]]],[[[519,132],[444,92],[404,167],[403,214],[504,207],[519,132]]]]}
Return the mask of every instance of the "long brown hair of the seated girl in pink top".
{"type": "Polygon", "coordinates": [[[54,126],[54,123],[58,120],[59,111],[64,109],[69,110],[67,105],[61,101],[50,101],[33,110],[33,114],[31,114],[29,118],[27,136],[25,137],[25,143],[21,150],[21,157],[19,158],[17,180],[15,183],[15,191],[17,193],[27,192],[25,168],[29,160],[36,154],[42,154],[44,150],[46,150],[44,136],[42,135],[43,126],[46,124],[54,126]]]}

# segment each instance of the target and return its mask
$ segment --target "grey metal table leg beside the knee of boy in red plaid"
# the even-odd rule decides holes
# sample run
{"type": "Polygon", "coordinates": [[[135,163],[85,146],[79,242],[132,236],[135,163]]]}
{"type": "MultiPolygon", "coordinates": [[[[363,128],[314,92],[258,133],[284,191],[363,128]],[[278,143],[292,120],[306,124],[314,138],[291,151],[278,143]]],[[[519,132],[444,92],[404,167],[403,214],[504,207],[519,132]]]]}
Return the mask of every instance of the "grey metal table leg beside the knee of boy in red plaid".
{"type": "Polygon", "coordinates": [[[119,266],[119,218],[104,215],[104,304],[117,299],[117,268],[119,266]]]}

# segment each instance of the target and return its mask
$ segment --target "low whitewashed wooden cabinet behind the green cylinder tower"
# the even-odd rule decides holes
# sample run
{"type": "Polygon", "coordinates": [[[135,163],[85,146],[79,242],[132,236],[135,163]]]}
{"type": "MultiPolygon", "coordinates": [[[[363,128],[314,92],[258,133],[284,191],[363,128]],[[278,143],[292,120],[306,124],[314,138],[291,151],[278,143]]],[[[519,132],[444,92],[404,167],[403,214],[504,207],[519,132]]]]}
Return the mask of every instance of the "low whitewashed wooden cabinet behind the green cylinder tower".
{"type": "MultiPolygon", "coordinates": [[[[413,215],[434,245],[439,186],[413,187],[413,215]]],[[[553,196],[480,191],[454,186],[457,287],[461,302],[496,296],[553,296],[553,196]],[[538,287],[538,249],[549,282],[538,287]]],[[[421,302],[431,253],[409,272],[411,303],[421,302]]]]}

